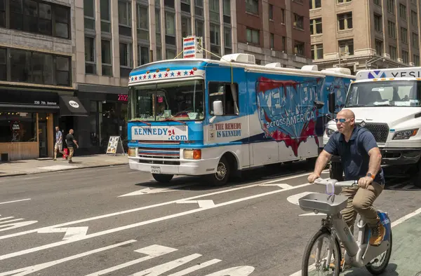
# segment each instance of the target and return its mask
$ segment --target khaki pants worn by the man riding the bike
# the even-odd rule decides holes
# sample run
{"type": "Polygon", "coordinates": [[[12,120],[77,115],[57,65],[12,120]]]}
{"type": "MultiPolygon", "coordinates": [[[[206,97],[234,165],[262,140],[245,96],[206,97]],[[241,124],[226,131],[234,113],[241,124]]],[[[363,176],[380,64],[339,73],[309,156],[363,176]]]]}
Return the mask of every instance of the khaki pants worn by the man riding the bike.
{"type": "Polygon", "coordinates": [[[351,233],[354,233],[356,214],[360,214],[366,220],[368,226],[375,226],[380,219],[373,207],[374,200],[382,193],[384,186],[373,182],[368,188],[343,188],[340,195],[348,197],[348,204],[342,210],[342,217],[347,222],[351,233]]]}

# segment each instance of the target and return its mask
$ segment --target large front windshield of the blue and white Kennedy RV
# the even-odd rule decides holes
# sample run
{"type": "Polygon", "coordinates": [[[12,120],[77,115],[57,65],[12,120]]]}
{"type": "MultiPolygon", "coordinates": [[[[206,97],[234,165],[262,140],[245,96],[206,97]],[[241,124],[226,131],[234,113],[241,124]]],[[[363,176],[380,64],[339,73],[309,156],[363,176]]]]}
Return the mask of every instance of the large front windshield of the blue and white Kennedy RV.
{"type": "Polygon", "coordinates": [[[203,81],[138,85],[128,92],[129,121],[203,120],[203,81]]]}

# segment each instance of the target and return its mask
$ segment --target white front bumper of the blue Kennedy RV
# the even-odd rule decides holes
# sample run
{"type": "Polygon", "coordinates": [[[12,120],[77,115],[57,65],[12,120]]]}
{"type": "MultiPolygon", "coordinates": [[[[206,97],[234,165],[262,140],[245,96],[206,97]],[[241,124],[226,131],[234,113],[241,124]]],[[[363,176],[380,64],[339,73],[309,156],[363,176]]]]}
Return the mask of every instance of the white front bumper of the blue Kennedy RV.
{"type": "Polygon", "coordinates": [[[179,160],[179,165],[147,163],[145,161],[145,159],[129,157],[128,165],[131,170],[152,174],[203,175],[214,173],[216,164],[218,164],[218,159],[179,160]]]}

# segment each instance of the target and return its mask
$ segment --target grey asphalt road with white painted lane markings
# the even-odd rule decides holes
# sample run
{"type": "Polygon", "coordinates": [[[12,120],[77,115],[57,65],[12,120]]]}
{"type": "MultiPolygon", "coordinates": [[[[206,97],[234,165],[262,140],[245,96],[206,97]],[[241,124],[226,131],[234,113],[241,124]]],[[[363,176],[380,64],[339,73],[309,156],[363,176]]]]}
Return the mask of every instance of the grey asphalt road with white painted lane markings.
{"type": "MultiPolygon", "coordinates": [[[[323,191],[301,167],[253,170],[220,188],[195,177],[163,186],[126,166],[2,177],[0,276],[300,275],[323,218],[294,204],[323,191]]],[[[408,234],[421,228],[421,191],[406,180],[389,179],[375,202],[392,222],[411,217],[394,227],[385,275],[421,271],[408,234]]]]}

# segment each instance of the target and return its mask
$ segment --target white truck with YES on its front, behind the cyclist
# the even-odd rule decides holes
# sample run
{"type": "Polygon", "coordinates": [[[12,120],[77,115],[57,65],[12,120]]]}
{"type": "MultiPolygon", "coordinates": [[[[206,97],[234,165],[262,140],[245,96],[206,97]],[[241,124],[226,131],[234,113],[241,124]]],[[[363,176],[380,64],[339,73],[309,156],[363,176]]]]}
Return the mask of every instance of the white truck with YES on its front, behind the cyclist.
{"type": "MultiPolygon", "coordinates": [[[[335,95],[329,95],[329,112],[335,112],[335,95]]],[[[355,113],[356,124],[373,133],[382,153],[382,165],[401,166],[421,187],[421,67],[362,70],[349,85],[345,109],[355,113]]],[[[330,120],[323,146],[336,123],[330,120]]],[[[342,179],[340,158],[333,156],[330,177],[342,179]]]]}

